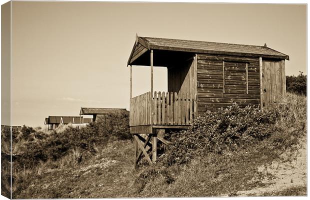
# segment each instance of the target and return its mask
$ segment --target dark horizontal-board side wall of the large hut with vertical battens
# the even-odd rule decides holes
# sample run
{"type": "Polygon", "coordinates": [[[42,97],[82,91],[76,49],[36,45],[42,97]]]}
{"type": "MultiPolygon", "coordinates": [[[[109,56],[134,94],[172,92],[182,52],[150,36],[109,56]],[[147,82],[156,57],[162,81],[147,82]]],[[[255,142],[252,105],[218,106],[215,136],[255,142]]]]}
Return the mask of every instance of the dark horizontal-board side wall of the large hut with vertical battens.
{"type": "Polygon", "coordinates": [[[198,114],[232,102],[259,106],[259,58],[197,55],[198,114]]]}

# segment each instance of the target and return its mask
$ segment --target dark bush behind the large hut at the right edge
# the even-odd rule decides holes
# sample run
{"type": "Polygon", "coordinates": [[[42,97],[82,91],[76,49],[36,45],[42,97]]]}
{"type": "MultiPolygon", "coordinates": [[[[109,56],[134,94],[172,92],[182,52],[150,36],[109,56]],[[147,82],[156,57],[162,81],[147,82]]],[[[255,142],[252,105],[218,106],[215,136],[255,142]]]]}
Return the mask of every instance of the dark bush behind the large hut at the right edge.
{"type": "Polygon", "coordinates": [[[297,94],[307,94],[307,76],[299,71],[299,75],[286,75],[286,91],[297,94]]]}

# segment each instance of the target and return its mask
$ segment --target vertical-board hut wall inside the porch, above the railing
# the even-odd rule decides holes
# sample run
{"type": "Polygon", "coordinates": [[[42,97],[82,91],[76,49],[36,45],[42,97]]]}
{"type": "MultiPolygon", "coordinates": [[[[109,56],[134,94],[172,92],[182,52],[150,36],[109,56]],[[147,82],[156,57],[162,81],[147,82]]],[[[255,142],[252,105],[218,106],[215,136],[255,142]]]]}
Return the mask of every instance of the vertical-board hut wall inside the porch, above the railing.
{"type": "Polygon", "coordinates": [[[184,65],[168,68],[168,91],[177,95],[194,97],[197,91],[195,60],[190,59],[184,65]]]}

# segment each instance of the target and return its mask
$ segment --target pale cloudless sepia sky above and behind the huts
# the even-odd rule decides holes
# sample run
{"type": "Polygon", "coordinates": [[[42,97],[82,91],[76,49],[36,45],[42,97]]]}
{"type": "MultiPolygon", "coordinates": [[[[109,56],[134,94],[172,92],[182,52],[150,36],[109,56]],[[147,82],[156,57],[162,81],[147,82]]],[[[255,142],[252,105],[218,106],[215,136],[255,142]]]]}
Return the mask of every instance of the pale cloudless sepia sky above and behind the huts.
{"type": "MultiPolygon", "coordinates": [[[[13,1],[12,124],[43,125],[80,107],[129,109],[126,62],[135,34],[263,45],[288,54],[286,75],[306,73],[306,5],[13,1]]],[[[133,96],[149,91],[133,66],[133,96]]],[[[166,91],[164,67],[154,90],[166,91]]]]}

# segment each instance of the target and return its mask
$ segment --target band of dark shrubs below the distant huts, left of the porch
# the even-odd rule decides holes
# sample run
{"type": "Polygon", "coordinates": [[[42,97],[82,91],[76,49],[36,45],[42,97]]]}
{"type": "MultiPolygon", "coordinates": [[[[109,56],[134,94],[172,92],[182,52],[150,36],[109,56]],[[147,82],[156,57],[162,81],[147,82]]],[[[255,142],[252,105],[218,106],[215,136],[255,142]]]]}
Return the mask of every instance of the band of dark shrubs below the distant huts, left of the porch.
{"type": "Polygon", "coordinates": [[[93,153],[97,145],[106,144],[110,140],[131,138],[128,124],[127,115],[110,114],[105,120],[98,120],[86,127],[79,129],[66,126],[59,132],[36,131],[32,127],[23,126],[13,141],[18,154],[15,167],[28,168],[40,160],[57,160],[77,147],[85,153],[93,153]]]}

